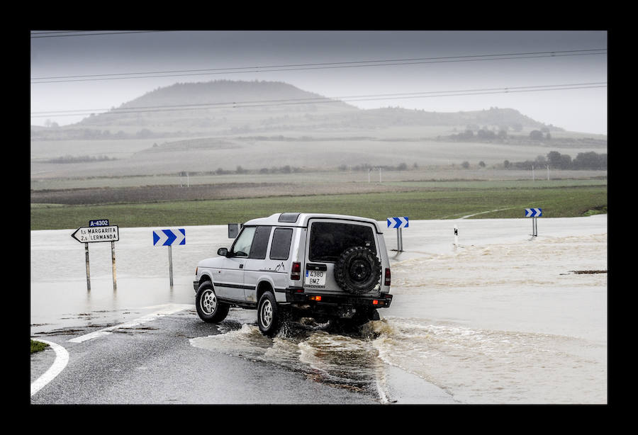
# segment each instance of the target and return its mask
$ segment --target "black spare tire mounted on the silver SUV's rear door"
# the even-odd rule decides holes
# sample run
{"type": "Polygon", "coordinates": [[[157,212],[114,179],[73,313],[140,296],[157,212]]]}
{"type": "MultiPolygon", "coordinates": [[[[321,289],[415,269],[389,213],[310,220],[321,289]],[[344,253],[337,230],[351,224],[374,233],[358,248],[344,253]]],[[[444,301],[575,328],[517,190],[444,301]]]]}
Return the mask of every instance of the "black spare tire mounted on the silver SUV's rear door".
{"type": "Polygon", "coordinates": [[[379,278],[381,262],[366,247],[346,249],[335,263],[335,280],[347,293],[367,293],[379,283],[379,278]]]}

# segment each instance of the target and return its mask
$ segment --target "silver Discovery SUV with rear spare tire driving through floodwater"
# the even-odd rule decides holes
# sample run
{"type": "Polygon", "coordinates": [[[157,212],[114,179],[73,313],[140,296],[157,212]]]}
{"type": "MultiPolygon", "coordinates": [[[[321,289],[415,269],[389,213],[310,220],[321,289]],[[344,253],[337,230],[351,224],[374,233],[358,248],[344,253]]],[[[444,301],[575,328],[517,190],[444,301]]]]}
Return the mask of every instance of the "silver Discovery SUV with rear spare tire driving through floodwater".
{"type": "Polygon", "coordinates": [[[230,307],[257,310],[263,334],[284,317],[364,324],[389,307],[390,263],[376,220],[345,215],[277,213],[242,226],[230,249],[198,263],[193,283],[204,322],[230,307]]]}

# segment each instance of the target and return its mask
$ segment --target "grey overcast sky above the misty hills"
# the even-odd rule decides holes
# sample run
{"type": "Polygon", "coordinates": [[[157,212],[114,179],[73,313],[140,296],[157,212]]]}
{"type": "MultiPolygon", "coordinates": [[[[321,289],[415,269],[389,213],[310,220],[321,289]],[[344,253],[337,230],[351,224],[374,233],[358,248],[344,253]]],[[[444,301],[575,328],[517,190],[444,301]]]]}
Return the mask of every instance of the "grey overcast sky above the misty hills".
{"type": "Polygon", "coordinates": [[[606,31],[86,33],[31,32],[32,125],[75,123],[177,82],[257,79],[360,108],[496,106],[566,130],[607,134],[606,31]],[[446,95],[427,94],[441,91],[446,95]]]}

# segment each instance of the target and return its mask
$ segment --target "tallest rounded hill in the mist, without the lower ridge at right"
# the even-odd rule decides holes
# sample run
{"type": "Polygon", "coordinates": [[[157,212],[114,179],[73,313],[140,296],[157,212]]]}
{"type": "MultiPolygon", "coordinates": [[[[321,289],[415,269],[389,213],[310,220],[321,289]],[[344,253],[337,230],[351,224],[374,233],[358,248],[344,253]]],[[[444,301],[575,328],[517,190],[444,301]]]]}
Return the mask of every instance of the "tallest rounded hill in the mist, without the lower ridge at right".
{"type": "Polygon", "coordinates": [[[177,83],[155,89],[108,113],[85,118],[83,127],[154,125],[157,128],[218,130],[223,125],[276,123],[301,113],[331,115],[357,111],[342,101],[279,81],[177,83]]]}

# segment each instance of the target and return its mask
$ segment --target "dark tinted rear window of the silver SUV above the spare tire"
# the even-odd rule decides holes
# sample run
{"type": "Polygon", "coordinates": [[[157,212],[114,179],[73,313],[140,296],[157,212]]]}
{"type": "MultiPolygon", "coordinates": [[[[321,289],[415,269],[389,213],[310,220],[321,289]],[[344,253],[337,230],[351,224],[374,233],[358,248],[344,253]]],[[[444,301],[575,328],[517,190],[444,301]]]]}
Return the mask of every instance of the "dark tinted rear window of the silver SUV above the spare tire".
{"type": "Polygon", "coordinates": [[[310,225],[310,261],[337,261],[351,247],[366,247],[376,252],[372,228],[344,222],[313,222],[310,225]]]}

